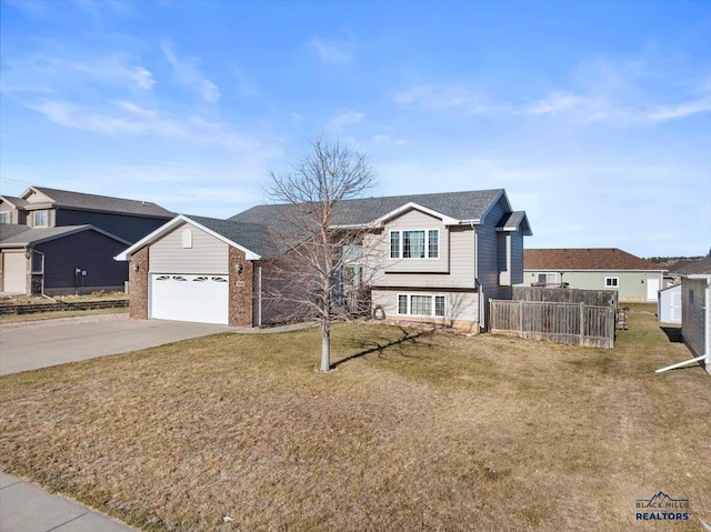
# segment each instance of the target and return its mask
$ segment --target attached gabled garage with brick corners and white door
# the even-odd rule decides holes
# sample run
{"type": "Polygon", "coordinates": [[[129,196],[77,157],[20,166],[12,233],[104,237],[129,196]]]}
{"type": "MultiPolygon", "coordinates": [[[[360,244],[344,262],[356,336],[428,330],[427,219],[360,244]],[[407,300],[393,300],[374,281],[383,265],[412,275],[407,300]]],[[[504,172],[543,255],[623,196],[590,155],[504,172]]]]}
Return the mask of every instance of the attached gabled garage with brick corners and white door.
{"type": "Polygon", "coordinates": [[[232,327],[261,325],[263,228],[180,214],[123,253],[130,315],[232,327]],[[238,243],[240,242],[240,243],[238,243]]]}

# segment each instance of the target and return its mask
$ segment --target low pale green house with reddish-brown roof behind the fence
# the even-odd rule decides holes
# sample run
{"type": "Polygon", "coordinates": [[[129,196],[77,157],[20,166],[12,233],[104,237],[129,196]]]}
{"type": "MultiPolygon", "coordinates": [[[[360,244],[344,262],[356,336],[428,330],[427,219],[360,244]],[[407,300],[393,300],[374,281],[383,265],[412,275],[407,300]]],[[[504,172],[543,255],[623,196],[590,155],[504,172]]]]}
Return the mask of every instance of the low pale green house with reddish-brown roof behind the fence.
{"type": "Polygon", "coordinates": [[[529,249],[523,285],[617,290],[619,301],[657,301],[664,269],[615,248],[529,249]]]}

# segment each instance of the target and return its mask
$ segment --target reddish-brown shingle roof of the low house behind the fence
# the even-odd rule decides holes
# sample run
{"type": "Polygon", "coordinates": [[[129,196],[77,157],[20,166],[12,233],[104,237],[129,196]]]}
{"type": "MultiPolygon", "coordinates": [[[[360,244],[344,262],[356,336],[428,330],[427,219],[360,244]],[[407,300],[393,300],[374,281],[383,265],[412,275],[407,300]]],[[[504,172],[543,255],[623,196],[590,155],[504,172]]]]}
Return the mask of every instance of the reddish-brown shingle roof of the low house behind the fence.
{"type": "Polygon", "coordinates": [[[654,270],[659,264],[617,248],[523,250],[524,270],[654,270]]]}

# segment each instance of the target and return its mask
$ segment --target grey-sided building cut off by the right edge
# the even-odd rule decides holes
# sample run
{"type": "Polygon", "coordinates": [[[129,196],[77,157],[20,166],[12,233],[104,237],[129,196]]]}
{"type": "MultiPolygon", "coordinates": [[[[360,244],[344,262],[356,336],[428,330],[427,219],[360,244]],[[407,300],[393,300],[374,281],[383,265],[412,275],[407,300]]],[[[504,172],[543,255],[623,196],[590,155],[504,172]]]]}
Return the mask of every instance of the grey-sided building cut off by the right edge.
{"type": "Polygon", "coordinates": [[[711,374],[711,258],[677,270],[681,277],[681,335],[711,374]]]}

